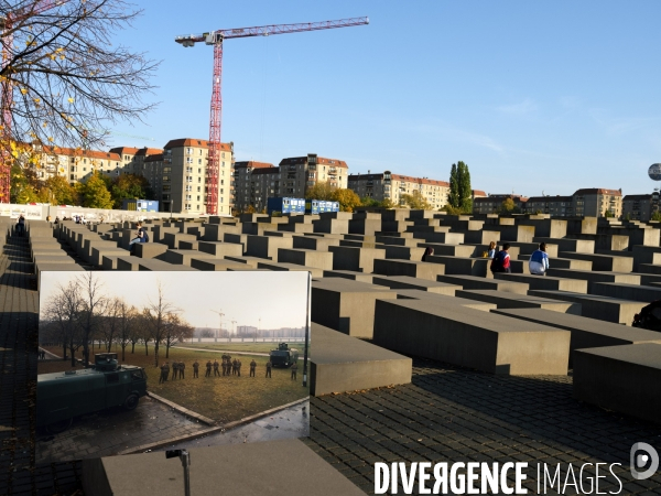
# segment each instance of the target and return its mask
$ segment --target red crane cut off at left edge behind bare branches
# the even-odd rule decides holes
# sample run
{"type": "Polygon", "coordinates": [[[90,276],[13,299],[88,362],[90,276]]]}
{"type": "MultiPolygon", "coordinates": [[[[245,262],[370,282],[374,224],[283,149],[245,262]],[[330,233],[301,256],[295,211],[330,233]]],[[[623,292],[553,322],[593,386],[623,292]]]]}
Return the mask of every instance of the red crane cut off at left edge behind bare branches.
{"type": "MultiPolygon", "coordinates": [[[[21,22],[26,18],[39,15],[55,7],[61,7],[67,3],[67,0],[41,0],[18,9],[14,12],[9,12],[6,18],[0,19],[0,40],[2,41],[2,68],[10,63],[13,53],[13,26],[17,22],[21,22]],[[7,34],[9,33],[9,34],[7,34]]],[[[12,114],[13,105],[13,85],[8,79],[4,79],[0,86],[2,97],[2,114],[0,115],[0,123],[2,125],[1,134],[6,141],[12,139],[12,114]]],[[[7,147],[7,142],[6,142],[7,147]]],[[[9,193],[11,190],[11,159],[7,148],[0,150],[0,203],[9,203],[9,193]]]]}

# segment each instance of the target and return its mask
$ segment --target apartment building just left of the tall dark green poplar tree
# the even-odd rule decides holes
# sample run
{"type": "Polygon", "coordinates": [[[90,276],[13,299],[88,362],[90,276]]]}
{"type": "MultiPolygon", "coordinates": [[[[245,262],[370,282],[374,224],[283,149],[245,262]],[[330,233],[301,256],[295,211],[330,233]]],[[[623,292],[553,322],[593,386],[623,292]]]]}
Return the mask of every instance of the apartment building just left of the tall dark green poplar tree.
{"type": "Polygon", "coordinates": [[[403,195],[413,195],[419,192],[433,208],[438,209],[447,205],[449,183],[446,181],[431,180],[429,177],[412,177],[393,174],[384,171],[378,174],[350,174],[348,187],[358,196],[382,202],[390,200],[395,205],[403,204],[403,195]]]}

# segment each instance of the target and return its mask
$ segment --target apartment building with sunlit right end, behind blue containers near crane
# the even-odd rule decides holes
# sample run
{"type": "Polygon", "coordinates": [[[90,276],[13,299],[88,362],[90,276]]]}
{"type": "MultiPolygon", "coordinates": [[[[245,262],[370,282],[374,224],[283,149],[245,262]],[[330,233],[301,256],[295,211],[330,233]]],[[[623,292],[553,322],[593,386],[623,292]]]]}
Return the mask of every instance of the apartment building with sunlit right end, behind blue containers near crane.
{"type": "Polygon", "coordinates": [[[304,197],[317,182],[346,188],[347,171],[346,162],[315,153],[283,159],[278,166],[267,162],[237,162],[235,207],[245,211],[251,205],[259,212],[267,206],[269,197],[304,197]]]}

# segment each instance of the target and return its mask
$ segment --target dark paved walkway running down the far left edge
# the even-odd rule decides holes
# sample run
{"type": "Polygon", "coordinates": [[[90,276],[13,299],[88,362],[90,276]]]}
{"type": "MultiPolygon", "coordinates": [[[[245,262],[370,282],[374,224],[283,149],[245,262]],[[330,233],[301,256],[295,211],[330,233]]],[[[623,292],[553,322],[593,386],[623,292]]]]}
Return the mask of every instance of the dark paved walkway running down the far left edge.
{"type": "Polygon", "coordinates": [[[36,283],[28,240],[12,238],[0,255],[0,494],[71,495],[79,462],[35,467],[36,283]]]}

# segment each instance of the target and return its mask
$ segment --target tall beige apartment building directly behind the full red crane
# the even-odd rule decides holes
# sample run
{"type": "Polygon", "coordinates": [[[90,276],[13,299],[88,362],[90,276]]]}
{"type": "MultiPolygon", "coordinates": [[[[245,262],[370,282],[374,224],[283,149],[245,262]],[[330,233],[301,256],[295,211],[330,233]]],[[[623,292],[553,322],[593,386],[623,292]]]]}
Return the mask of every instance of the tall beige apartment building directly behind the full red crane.
{"type": "MultiPolygon", "coordinates": [[[[234,145],[221,143],[218,159],[218,214],[231,214],[234,145]]],[[[162,179],[154,188],[162,212],[205,214],[208,142],[195,138],[170,140],[163,148],[162,179]]],[[[152,166],[154,165],[152,163],[152,166]]]]}

